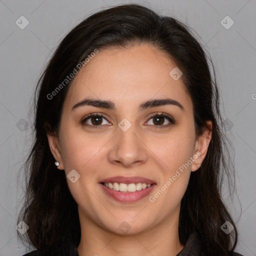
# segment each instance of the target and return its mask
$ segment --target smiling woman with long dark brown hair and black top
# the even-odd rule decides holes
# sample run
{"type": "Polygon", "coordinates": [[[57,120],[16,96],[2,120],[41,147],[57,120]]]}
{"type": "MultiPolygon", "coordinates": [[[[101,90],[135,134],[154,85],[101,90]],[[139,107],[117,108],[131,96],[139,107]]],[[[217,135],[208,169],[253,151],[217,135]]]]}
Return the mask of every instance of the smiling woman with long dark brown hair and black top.
{"type": "Polygon", "coordinates": [[[184,24],[137,4],[89,16],[35,100],[26,255],[240,255],[215,74],[184,24]]]}

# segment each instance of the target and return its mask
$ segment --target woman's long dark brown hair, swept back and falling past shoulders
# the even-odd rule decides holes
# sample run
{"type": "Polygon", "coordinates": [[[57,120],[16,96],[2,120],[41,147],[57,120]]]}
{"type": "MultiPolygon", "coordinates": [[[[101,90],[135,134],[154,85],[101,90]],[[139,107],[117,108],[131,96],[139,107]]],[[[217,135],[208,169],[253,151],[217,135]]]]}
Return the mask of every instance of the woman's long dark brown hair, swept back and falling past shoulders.
{"type": "MultiPolygon", "coordinates": [[[[190,233],[197,232],[207,255],[228,255],[236,245],[237,231],[220,194],[223,174],[230,179],[233,164],[230,164],[229,153],[226,154],[228,139],[223,132],[212,61],[189,27],[137,4],[114,6],[90,15],[64,37],[48,62],[34,94],[35,138],[24,163],[26,193],[18,222],[27,223],[27,241],[37,249],[53,246],[61,235],[79,229],[77,204],[64,172],[56,171],[46,137],[46,133],[58,134],[62,104],[70,82],[54,98],[48,99],[47,95],[95,49],[138,43],[147,43],[165,52],[183,72],[182,79],[192,99],[196,135],[207,128],[207,120],[212,121],[207,154],[198,171],[191,173],[181,200],[180,242],[184,244],[190,233]],[[220,228],[225,221],[234,226],[230,234],[220,228]]],[[[79,235],[77,232],[77,242],[79,235]]]]}

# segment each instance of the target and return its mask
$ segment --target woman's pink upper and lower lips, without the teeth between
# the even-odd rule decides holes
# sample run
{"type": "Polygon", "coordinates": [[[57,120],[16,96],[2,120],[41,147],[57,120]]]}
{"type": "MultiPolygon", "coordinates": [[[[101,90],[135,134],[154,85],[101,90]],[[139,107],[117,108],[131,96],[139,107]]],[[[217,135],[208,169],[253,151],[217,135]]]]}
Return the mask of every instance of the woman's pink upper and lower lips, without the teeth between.
{"type": "Polygon", "coordinates": [[[102,187],[102,189],[107,195],[109,195],[116,201],[135,202],[147,196],[152,191],[152,189],[154,189],[154,187],[156,186],[156,183],[153,180],[139,177],[139,176],[133,176],[133,177],[115,176],[115,177],[110,177],[110,178],[105,178],[100,180],[99,185],[102,187]],[[151,186],[135,192],[121,192],[121,191],[116,191],[114,189],[106,187],[105,185],[102,184],[102,183],[108,183],[108,182],[117,182],[117,183],[125,183],[125,184],[140,182],[140,183],[151,184],[151,186]]]}

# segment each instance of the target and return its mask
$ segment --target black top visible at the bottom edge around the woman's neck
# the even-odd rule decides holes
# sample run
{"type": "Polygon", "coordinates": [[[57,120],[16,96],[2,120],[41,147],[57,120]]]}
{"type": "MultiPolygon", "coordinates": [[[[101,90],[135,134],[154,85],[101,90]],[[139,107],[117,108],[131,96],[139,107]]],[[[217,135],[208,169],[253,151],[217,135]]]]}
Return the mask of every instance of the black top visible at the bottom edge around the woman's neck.
{"type": "MultiPolygon", "coordinates": [[[[102,254],[103,255],[103,254],[102,254]]],[[[72,240],[71,235],[66,235],[58,242],[57,246],[52,249],[34,250],[24,254],[23,256],[79,256],[77,246],[72,240]]],[[[203,246],[198,236],[190,234],[185,246],[176,256],[215,256],[203,253],[203,246]]],[[[217,255],[220,256],[220,255],[217,255]]],[[[234,252],[232,256],[242,256],[234,252]]]]}

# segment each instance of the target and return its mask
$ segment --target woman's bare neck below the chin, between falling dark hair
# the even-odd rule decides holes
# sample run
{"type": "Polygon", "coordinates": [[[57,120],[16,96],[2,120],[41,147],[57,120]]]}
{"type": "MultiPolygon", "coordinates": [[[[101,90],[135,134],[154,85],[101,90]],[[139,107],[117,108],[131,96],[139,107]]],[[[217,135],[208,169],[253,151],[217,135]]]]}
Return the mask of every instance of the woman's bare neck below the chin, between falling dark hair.
{"type": "Polygon", "coordinates": [[[119,235],[86,217],[80,217],[81,239],[77,247],[79,256],[175,256],[184,246],[178,237],[178,215],[155,226],[135,233],[119,235]]]}

